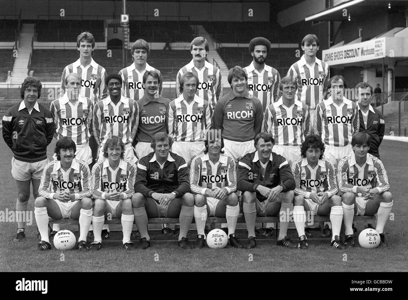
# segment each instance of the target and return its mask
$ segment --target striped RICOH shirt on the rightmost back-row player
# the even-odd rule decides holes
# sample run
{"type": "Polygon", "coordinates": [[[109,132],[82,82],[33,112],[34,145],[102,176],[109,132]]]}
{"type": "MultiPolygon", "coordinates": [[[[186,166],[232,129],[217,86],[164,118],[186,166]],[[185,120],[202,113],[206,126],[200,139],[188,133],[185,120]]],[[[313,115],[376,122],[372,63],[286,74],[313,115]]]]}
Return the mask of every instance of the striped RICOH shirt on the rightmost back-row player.
{"type": "Polygon", "coordinates": [[[313,66],[306,63],[304,55],[292,64],[287,76],[297,80],[297,98],[306,104],[310,110],[316,109],[317,104],[323,101],[323,87],[330,78],[328,64],[316,58],[313,66]]]}

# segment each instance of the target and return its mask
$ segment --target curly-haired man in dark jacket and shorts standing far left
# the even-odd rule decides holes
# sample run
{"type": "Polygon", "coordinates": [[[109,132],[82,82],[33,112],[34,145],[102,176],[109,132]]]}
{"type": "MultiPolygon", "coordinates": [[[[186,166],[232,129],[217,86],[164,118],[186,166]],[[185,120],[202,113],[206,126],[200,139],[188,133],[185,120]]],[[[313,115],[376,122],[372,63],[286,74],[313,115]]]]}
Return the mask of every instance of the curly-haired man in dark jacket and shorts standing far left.
{"type": "Polygon", "coordinates": [[[3,116],[3,138],[13,151],[11,175],[17,185],[17,235],[14,241],[25,238],[24,228],[30,184],[33,196],[38,197],[42,171],[48,163],[47,146],[52,140],[55,127],[51,112],[38,104],[42,84],[36,77],[27,77],[21,84],[22,101],[10,107],[3,116]]]}

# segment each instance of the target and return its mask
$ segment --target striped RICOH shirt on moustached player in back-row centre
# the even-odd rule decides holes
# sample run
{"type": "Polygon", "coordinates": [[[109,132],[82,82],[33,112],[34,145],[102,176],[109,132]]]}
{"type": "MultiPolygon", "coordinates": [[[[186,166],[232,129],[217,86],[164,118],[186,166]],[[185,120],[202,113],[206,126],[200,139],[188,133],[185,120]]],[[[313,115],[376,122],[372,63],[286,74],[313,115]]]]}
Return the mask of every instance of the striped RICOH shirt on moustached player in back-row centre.
{"type": "Polygon", "coordinates": [[[191,60],[191,62],[182,67],[177,73],[177,97],[180,97],[182,94],[180,93],[181,77],[186,72],[191,72],[197,75],[199,83],[197,86],[197,91],[195,93],[200,98],[208,101],[212,113],[215,108],[215,104],[222,97],[222,80],[220,69],[206,61],[204,67],[200,71],[199,69],[194,67],[193,60],[191,60]]]}

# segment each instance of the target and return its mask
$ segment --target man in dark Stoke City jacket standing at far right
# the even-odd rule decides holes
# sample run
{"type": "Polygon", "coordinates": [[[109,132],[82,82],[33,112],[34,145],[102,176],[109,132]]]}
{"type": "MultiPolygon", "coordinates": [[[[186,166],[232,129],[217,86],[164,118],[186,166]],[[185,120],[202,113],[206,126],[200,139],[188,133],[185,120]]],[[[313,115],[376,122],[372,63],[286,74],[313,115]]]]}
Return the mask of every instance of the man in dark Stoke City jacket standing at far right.
{"type": "Polygon", "coordinates": [[[357,90],[357,108],[359,111],[359,132],[367,133],[370,136],[370,149],[368,153],[380,158],[378,152],[385,131],[385,121],[383,114],[370,104],[373,96],[373,87],[367,82],[360,82],[355,87],[357,90]]]}

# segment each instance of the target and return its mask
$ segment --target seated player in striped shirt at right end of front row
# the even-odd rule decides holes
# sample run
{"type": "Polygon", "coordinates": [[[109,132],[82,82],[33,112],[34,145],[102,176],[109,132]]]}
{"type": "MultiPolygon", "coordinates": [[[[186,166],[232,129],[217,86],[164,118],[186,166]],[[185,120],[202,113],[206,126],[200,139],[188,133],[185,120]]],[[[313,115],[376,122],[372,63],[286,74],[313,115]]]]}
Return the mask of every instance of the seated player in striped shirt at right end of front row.
{"type": "Polygon", "coordinates": [[[368,153],[370,136],[356,133],[351,139],[352,154],[341,159],[337,167],[339,189],[343,192],[343,222],[346,229],[344,244],[354,247],[353,216],[374,216],[380,235],[379,247],[387,247],[384,226],[392,209],[392,194],[388,191],[387,172],[381,160],[368,153]]]}

